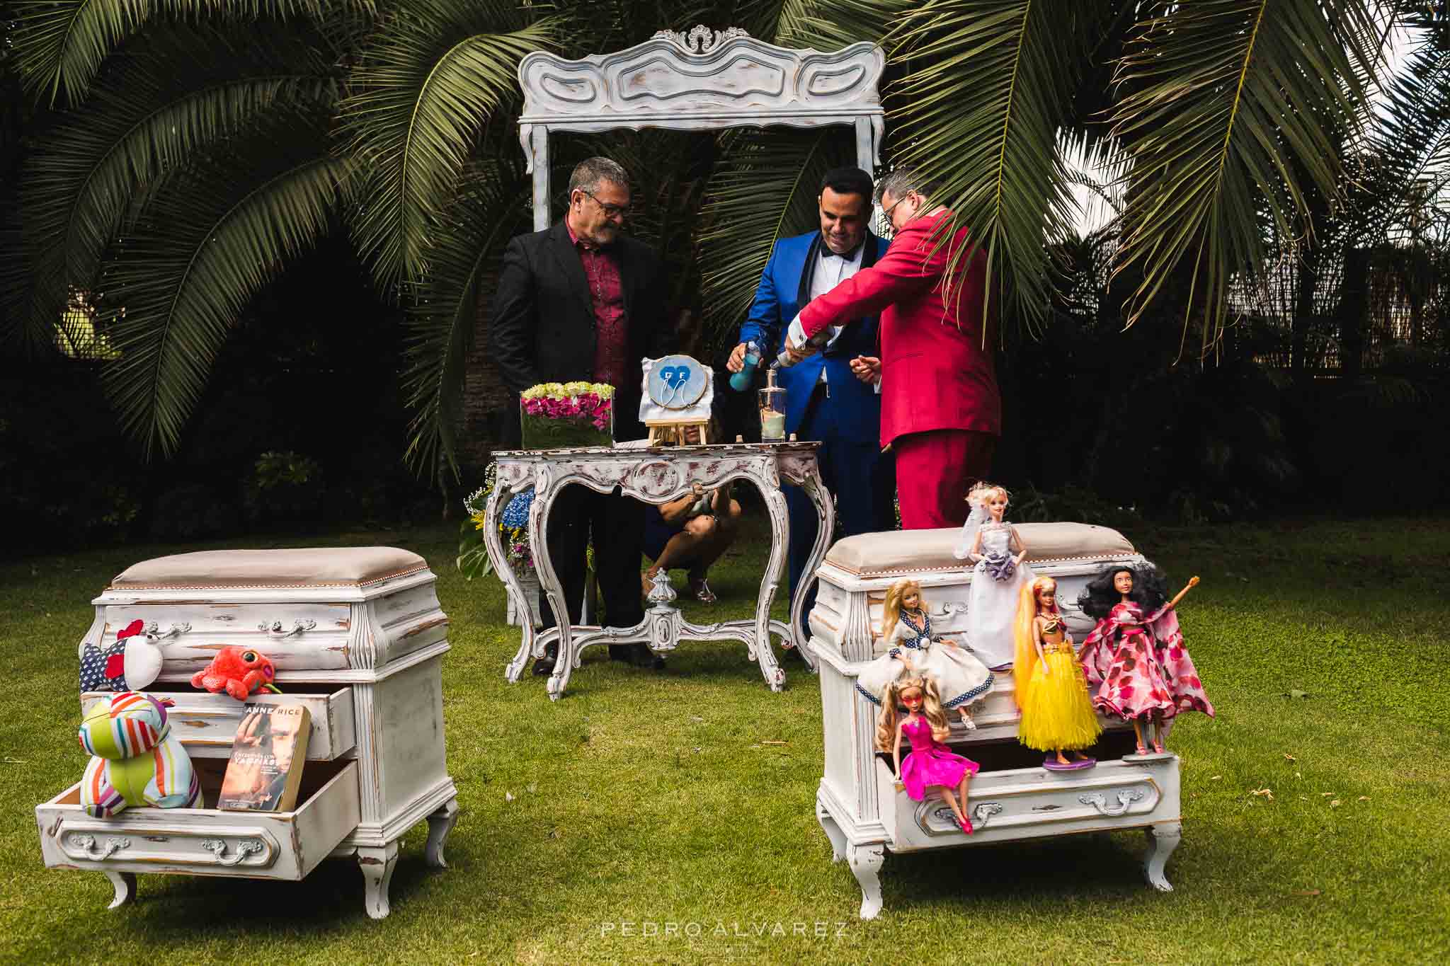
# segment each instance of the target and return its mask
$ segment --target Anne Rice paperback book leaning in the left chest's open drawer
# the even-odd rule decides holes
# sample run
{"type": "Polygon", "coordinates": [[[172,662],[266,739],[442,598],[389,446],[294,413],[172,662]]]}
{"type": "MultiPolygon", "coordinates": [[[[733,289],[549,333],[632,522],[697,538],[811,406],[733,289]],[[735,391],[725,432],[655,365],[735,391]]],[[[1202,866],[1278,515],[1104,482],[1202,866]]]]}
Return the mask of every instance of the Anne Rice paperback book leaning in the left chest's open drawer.
{"type": "Polygon", "coordinates": [[[300,704],[246,704],[216,807],[228,811],[296,808],[310,718],[300,704]]]}

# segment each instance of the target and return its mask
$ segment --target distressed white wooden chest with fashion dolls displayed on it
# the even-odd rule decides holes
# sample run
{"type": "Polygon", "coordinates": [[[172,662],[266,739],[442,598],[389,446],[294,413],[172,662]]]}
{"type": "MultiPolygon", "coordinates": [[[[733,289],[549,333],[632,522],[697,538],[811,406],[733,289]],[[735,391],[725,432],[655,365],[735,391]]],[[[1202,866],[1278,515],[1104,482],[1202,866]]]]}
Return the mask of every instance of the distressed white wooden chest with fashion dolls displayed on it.
{"type": "MultiPolygon", "coordinates": [[[[1106,563],[1143,558],[1119,533],[1072,523],[1018,524],[1030,547],[1028,563],[1057,581],[1057,601],[1074,640],[1093,621],[1076,608],[1083,585],[1106,563]]],[[[1102,718],[1106,728],[1095,768],[1048,772],[1043,753],[1016,742],[1018,711],[1011,669],[998,671],[992,691],[976,705],[977,730],[953,717],[953,749],[982,765],[972,779],[967,836],[951,808],[928,795],[912,801],[896,791],[890,756],[874,749],[876,707],[856,688],[856,678],[882,653],[882,604],[902,578],[922,587],[932,630],[964,637],[972,571],[953,558],[957,530],[869,533],[838,542],[816,571],[821,585],[811,611],[811,650],[819,659],[825,772],[816,817],[831,839],[834,860],[847,859],[861,885],[861,918],[882,908],[879,870],[886,852],[919,852],[1041,839],[1080,831],[1146,828],[1153,847],[1148,882],[1172,886],[1164,863],[1180,836],[1179,760],[1176,755],[1134,755],[1132,728],[1102,718]]],[[[967,642],[970,644],[970,640],[967,642]]]]}

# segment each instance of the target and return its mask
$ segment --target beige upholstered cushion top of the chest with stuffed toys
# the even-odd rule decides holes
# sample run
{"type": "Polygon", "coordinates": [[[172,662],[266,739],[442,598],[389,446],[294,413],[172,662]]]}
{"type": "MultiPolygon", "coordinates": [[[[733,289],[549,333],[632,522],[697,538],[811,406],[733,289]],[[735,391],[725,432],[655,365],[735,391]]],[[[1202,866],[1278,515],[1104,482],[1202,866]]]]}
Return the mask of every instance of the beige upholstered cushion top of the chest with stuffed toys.
{"type": "Polygon", "coordinates": [[[423,558],[397,547],[202,550],[135,563],[110,588],[361,587],[425,569],[423,558]]]}

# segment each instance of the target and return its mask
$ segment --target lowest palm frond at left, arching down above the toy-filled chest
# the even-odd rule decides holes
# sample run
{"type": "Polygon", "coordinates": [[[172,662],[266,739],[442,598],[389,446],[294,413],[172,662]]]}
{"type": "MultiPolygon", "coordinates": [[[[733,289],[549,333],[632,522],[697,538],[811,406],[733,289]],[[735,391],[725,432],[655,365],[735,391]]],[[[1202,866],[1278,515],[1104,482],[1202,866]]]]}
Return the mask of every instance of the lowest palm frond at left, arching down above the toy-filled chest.
{"type": "Polygon", "coordinates": [[[270,133],[158,185],[104,271],[120,352],[104,385],[148,455],[175,450],[238,314],[338,206],[348,162],[318,139],[270,133]]]}

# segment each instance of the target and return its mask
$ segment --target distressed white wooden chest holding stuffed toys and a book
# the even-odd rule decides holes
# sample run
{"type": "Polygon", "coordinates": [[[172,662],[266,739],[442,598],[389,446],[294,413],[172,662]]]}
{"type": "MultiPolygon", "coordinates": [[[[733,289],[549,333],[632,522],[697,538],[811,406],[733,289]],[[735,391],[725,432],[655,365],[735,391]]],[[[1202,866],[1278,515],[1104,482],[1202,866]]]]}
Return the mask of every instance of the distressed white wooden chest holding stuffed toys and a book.
{"type": "MultiPolygon", "coordinates": [[[[128,808],[91,818],[72,785],[38,805],[49,868],[93,869],[135,895],[138,872],[302,879],[328,856],[355,856],[368,915],[389,912],[397,841],[429,823],[426,859],[444,865],[457,791],[444,760],[441,658],[448,618],[434,574],[396,547],[212,550],[138,563],[97,597],[86,644],[109,644],[139,618],[161,636],[168,723],[216,802],[242,704],[191,686],[220,649],[255,647],[277,668],[280,695],[300,701],[312,734],[290,812],[128,808]]],[[[81,695],[83,708],[99,695],[81,695]]],[[[78,721],[78,718],[77,718],[78,721]]]]}

